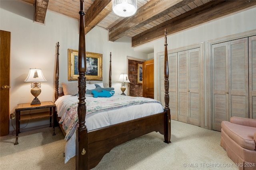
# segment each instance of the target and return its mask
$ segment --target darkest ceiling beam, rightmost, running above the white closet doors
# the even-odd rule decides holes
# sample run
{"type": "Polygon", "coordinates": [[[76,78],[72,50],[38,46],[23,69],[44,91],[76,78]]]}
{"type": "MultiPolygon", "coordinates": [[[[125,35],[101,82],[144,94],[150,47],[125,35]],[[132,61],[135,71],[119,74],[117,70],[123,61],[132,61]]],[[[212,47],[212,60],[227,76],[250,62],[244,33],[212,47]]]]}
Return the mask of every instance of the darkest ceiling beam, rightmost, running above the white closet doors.
{"type": "Polygon", "coordinates": [[[132,47],[138,47],[139,45],[162,38],[164,35],[164,29],[167,29],[168,35],[171,35],[184,29],[194,27],[255,5],[256,0],[210,1],[202,6],[181,14],[180,16],[172,18],[171,20],[135,35],[132,37],[132,47]]]}

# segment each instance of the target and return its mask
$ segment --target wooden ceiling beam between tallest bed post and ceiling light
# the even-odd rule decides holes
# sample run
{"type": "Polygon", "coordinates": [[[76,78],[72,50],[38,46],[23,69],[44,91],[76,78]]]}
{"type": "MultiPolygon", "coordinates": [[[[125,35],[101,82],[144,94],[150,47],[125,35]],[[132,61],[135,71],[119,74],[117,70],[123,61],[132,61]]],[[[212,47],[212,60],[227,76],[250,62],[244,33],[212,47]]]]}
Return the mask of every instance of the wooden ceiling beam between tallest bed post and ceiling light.
{"type": "Polygon", "coordinates": [[[112,0],[95,0],[85,14],[85,34],[112,12],[112,0]]]}

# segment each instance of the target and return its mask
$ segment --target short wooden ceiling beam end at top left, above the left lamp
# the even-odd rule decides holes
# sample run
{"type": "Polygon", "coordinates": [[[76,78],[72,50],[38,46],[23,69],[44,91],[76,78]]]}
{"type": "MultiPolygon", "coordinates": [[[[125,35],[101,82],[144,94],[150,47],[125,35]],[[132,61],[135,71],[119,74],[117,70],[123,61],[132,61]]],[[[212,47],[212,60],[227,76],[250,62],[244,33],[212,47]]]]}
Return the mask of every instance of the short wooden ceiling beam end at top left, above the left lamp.
{"type": "Polygon", "coordinates": [[[49,0],[36,0],[34,21],[44,23],[49,0]]]}

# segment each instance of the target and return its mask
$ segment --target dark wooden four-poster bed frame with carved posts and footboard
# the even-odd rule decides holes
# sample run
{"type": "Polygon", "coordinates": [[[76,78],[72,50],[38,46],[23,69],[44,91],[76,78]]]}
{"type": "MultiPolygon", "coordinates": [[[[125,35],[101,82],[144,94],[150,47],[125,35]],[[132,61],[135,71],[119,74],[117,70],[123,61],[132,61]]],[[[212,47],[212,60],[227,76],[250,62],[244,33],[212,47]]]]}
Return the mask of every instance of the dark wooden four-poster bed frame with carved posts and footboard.
{"type": "MultiPolygon", "coordinates": [[[[167,41],[165,30],[165,63],[164,63],[164,88],[165,107],[161,113],[140,117],[114,125],[101,127],[88,131],[86,125],[86,49],[84,34],[84,0],[80,0],[80,29],[79,29],[79,49],[78,49],[78,127],[76,130],[76,169],[94,168],[102,159],[104,154],[122,143],[156,131],[164,135],[164,142],[170,143],[170,108],[169,108],[169,80],[168,80],[168,59],[167,41]]],[[[58,99],[58,79],[59,79],[59,44],[57,45],[57,61],[55,73],[55,100],[58,99]]],[[[111,53],[110,53],[110,82],[111,87],[111,53]]],[[[111,97],[112,98],[112,97],[111,97]]],[[[161,106],[162,107],[162,106],[161,106]]],[[[56,117],[56,116],[55,116],[56,117]]]]}

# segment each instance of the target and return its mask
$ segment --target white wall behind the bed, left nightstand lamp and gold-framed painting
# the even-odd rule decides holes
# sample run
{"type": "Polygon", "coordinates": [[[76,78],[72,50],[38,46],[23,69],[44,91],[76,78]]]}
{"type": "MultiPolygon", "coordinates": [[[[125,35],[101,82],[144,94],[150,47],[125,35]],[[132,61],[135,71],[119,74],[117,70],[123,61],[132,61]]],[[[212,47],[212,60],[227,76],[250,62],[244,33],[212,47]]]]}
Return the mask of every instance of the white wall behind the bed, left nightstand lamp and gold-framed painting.
{"type": "MultiPolygon", "coordinates": [[[[42,82],[42,101],[54,101],[56,44],[60,43],[60,84],[68,82],[68,49],[78,49],[78,21],[47,11],[45,25],[33,22],[33,7],[14,0],[0,1],[0,29],[11,32],[10,113],[17,104],[30,103],[30,83],[23,82],[29,68],[42,68],[47,82],[42,82]]],[[[148,55],[135,52],[130,38],[108,41],[108,31],[95,27],[86,35],[86,51],[103,54],[103,82],[108,82],[109,57],[112,52],[112,87],[120,94],[116,81],[121,72],[127,73],[126,57],[146,60],[148,55]]],[[[48,119],[21,122],[20,127],[48,124],[48,119]]],[[[10,131],[13,130],[10,121],[10,131]]]]}

